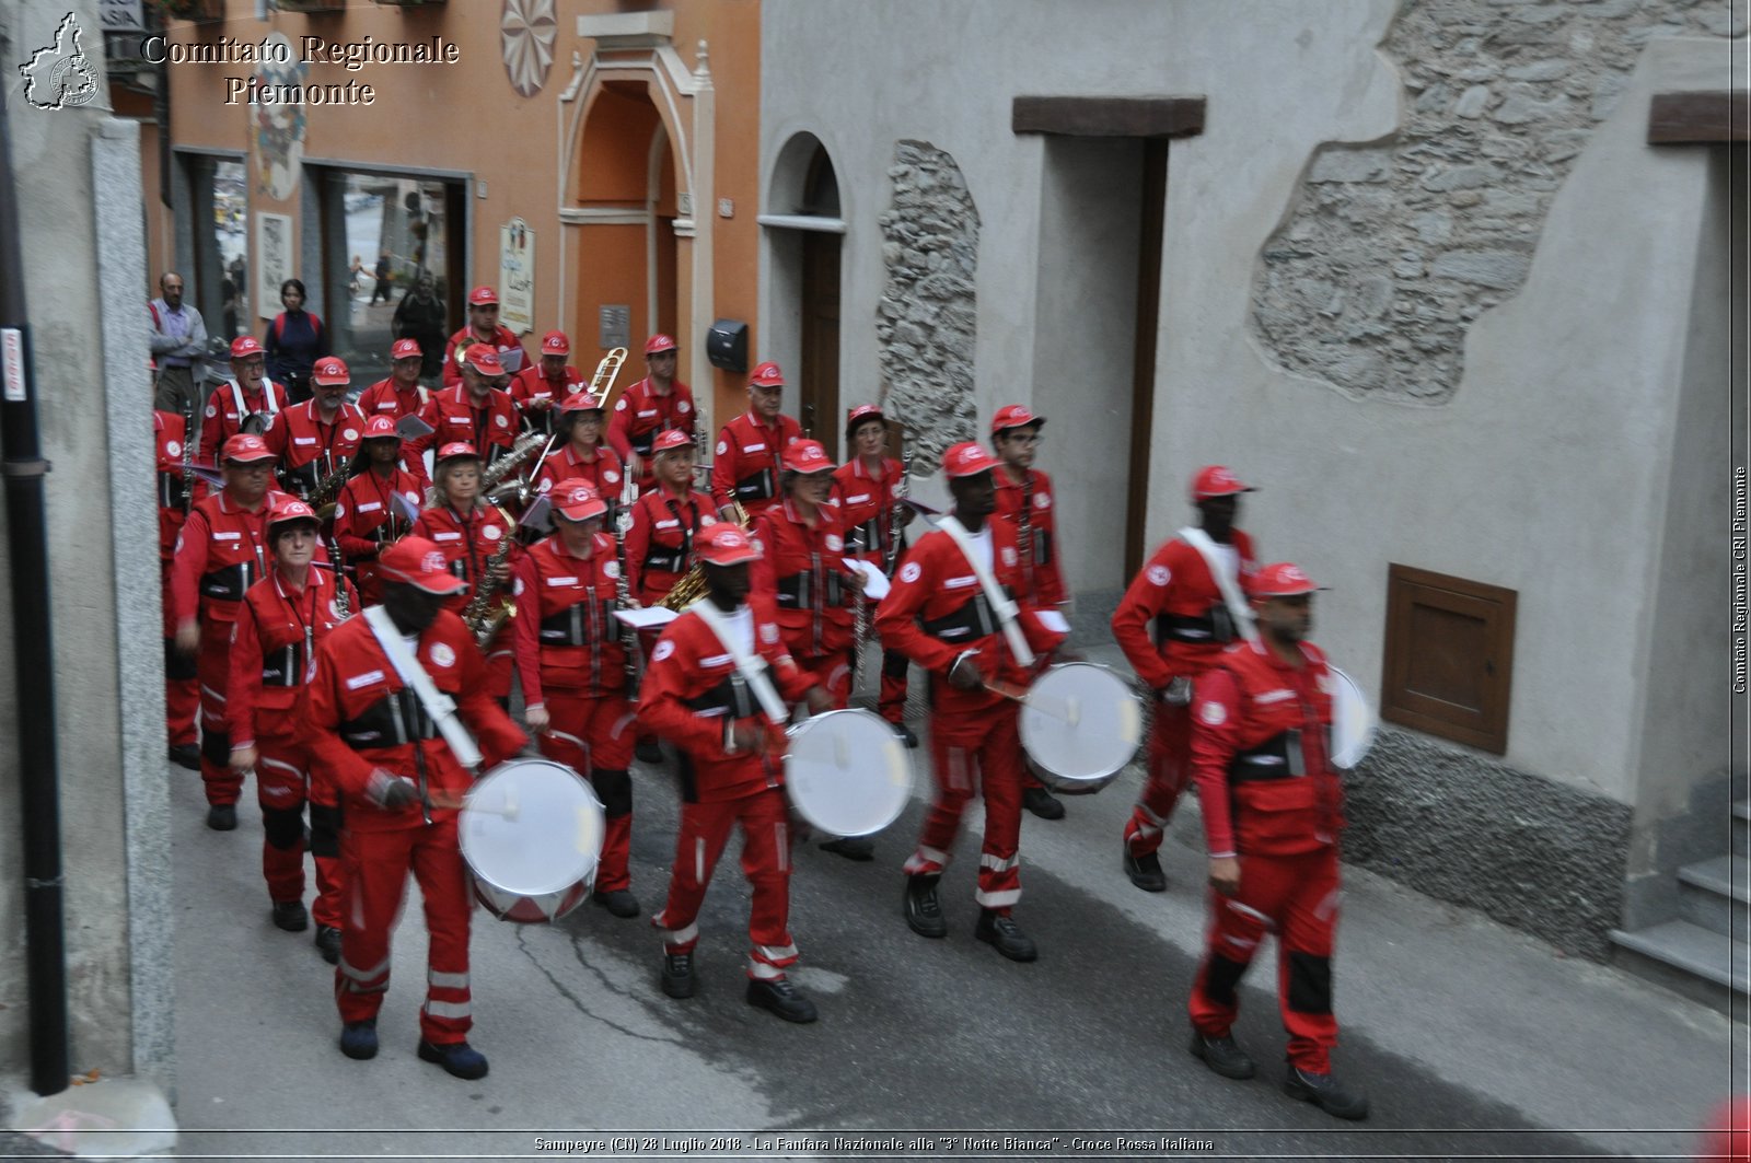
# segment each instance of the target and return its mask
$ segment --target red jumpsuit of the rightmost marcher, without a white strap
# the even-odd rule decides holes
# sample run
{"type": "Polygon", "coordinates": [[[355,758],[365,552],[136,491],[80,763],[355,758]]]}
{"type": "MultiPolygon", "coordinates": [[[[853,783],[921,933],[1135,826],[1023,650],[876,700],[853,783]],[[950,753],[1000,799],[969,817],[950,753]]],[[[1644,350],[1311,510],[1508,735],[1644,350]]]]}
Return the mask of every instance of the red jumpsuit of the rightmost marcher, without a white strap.
{"type": "Polygon", "coordinates": [[[1210,890],[1191,1018],[1208,1037],[1229,1032],[1240,977],[1271,928],[1289,1065],[1326,1074],[1338,1044],[1331,951],[1343,785],[1329,760],[1331,671],[1311,643],[1301,655],[1292,667],[1264,645],[1236,643],[1198,681],[1192,769],[1205,841],[1212,856],[1238,855],[1240,892],[1210,890]]]}

